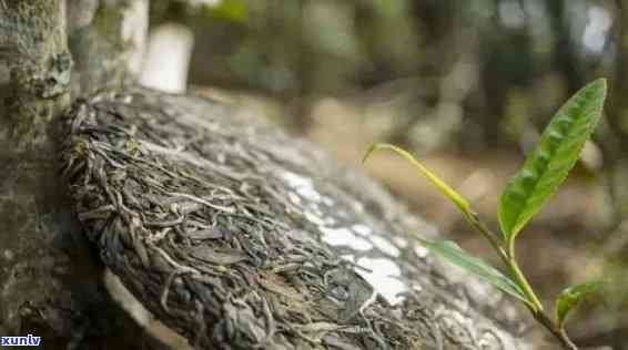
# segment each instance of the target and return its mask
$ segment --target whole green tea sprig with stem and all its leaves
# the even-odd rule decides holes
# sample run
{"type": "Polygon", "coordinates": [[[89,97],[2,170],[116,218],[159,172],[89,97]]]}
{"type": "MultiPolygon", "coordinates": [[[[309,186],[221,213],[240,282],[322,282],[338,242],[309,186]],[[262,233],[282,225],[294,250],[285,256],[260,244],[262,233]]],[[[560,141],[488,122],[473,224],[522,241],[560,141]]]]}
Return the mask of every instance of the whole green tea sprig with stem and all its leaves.
{"type": "Polygon", "coordinates": [[[488,240],[502,259],[506,272],[470,256],[453,241],[427,241],[416,234],[414,237],[434,255],[523,301],[533,317],[568,350],[578,348],[565,330],[567,315],[583,300],[598,292],[601,284],[596,281],[566,288],[556,300],[553,318],[544,309],[519,268],[515,254],[515,240],[528,222],[556,193],[580,157],[585,143],[601,117],[605,99],[606,81],[598,79],[576,92],[556,112],[543,132],[535,151],[527,156],[523,167],[508,181],[502,193],[497,214],[500,235],[495,235],[488,229],[460,194],[408,152],[389,144],[375,144],[364,156],[364,162],[366,162],[374,152],[388,150],[409,161],[418,174],[449,199],[466,222],[488,240]]]}

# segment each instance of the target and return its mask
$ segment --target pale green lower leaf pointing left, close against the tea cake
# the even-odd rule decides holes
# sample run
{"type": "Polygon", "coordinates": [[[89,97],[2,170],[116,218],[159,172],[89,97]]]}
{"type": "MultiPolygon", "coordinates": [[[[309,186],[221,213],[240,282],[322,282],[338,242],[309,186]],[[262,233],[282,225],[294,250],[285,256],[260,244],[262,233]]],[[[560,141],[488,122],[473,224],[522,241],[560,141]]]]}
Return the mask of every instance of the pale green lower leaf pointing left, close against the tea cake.
{"type": "Polygon", "coordinates": [[[482,259],[470,256],[468,253],[458,247],[458,245],[456,245],[454,241],[445,240],[432,243],[421,238],[419,240],[433,254],[440,256],[447,261],[482,278],[483,280],[499,288],[504,292],[518,298],[524,302],[531,303],[531,301],[529,301],[525,297],[524,292],[515,281],[513,281],[506,275],[502,274],[498,269],[484,262],[482,259]]]}

